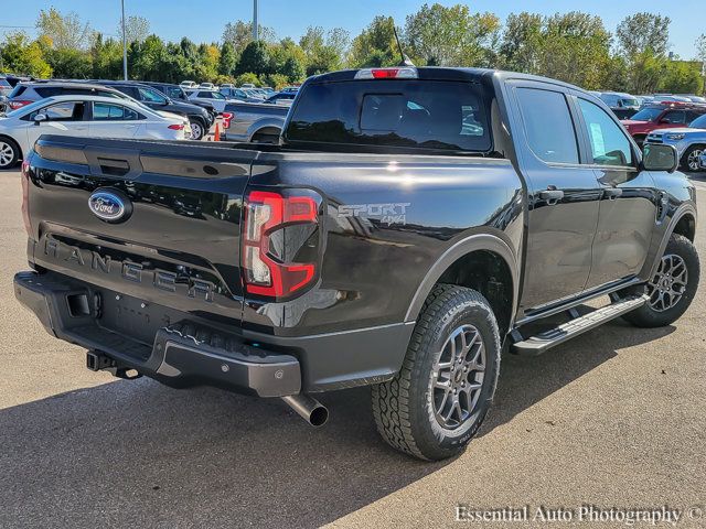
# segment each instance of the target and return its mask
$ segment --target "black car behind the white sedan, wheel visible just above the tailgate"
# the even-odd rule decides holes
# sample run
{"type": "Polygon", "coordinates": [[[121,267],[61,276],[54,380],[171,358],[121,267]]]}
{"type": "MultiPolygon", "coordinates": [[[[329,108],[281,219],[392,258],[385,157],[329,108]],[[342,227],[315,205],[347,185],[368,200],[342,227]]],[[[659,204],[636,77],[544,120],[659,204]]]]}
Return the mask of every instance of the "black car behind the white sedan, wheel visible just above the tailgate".
{"type": "Polygon", "coordinates": [[[133,99],[147,105],[153,110],[164,110],[189,118],[191,125],[191,139],[201,140],[208,132],[211,117],[208,112],[192,101],[179,101],[167,97],[160,90],[137,82],[104,80],[106,86],[130,96],[133,99]]]}

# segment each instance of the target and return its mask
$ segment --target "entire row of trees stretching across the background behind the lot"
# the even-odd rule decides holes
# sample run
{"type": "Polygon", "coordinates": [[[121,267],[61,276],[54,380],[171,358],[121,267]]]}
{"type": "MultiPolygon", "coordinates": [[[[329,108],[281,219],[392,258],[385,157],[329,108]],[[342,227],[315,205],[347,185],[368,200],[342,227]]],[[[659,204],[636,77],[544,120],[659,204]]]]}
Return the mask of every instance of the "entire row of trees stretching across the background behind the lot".
{"type": "MultiPolygon", "coordinates": [[[[434,3],[409,14],[397,32],[405,53],[418,66],[512,69],[587,89],[702,94],[706,35],[695,43],[694,58],[682,61],[670,55],[670,24],[668,17],[635,13],[611,32],[600,17],[579,11],[522,12],[502,22],[468,6],[434,3]]],[[[34,40],[24,32],[4,35],[0,71],[56,78],[122,76],[121,36],[95,32],[76,13],[54,8],[40,12],[36,30],[34,40]]],[[[120,25],[116,34],[121,35],[120,25]]],[[[225,25],[218,43],[197,44],[185,36],[165,42],[141,17],[127,18],[126,35],[129,76],[142,80],[281,87],[323,72],[400,62],[395,21],[384,15],[375,17],[354,37],[342,28],[310,26],[296,41],[260,26],[260,39],[254,42],[250,23],[236,21],[225,25]]]]}

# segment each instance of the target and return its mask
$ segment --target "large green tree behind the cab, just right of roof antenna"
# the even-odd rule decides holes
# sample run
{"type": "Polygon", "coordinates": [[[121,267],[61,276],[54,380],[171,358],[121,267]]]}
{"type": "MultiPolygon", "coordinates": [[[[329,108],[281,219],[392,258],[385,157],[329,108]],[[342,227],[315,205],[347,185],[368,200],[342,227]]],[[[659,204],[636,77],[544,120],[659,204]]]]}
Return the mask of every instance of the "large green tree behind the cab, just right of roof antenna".
{"type": "Polygon", "coordinates": [[[406,52],[421,64],[491,66],[500,26],[494,14],[471,13],[468,6],[425,3],[407,17],[406,52]]]}

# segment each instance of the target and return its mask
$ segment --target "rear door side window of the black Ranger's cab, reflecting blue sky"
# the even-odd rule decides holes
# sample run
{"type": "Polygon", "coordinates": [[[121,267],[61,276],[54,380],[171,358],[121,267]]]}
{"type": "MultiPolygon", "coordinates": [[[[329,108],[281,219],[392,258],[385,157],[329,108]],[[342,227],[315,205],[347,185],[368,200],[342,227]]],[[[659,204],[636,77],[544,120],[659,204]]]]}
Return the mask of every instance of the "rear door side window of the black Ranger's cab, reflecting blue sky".
{"type": "Polygon", "coordinates": [[[564,94],[517,88],[530,149],[545,162],[578,163],[578,147],[564,94]]]}

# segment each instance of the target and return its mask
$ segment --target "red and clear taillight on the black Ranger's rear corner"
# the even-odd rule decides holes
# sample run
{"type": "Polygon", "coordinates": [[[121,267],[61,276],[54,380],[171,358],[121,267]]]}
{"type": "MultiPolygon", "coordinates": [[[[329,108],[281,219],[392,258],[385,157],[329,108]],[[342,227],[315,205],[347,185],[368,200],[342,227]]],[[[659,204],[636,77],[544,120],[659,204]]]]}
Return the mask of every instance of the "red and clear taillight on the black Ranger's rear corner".
{"type": "Polygon", "coordinates": [[[243,229],[243,277],[247,292],[282,298],[303,289],[317,274],[317,262],[287,262],[285,228],[319,223],[320,197],[312,192],[284,194],[253,191],[246,197],[243,229]],[[272,240],[277,238],[277,240],[272,240]]]}

